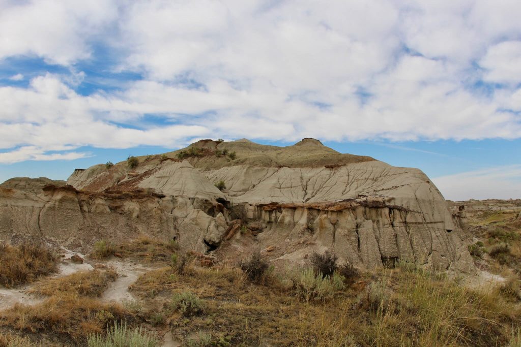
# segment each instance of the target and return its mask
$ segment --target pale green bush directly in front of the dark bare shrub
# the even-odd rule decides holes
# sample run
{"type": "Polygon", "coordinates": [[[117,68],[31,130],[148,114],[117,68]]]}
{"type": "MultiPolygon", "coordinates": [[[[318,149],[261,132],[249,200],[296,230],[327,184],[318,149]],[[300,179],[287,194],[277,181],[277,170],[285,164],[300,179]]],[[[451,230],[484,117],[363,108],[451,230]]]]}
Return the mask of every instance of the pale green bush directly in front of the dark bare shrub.
{"type": "MultiPolygon", "coordinates": [[[[336,281],[338,285],[338,281],[343,282],[343,278],[337,278],[336,281]]],[[[313,268],[304,269],[293,280],[293,284],[296,295],[305,301],[326,301],[333,296],[336,289],[329,276],[324,277],[321,273],[315,274],[313,268]]]]}

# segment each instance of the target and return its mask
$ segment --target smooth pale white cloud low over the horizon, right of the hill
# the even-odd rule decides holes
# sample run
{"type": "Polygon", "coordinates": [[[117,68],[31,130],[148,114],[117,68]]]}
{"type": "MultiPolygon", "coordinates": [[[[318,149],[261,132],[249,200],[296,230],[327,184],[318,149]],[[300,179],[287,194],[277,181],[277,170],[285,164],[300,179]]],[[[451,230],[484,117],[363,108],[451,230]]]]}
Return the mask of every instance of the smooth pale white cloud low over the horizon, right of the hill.
{"type": "Polygon", "coordinates": [[[432,178],[445,199],[518,199],[521,165],[499,166],[432,178]]]}

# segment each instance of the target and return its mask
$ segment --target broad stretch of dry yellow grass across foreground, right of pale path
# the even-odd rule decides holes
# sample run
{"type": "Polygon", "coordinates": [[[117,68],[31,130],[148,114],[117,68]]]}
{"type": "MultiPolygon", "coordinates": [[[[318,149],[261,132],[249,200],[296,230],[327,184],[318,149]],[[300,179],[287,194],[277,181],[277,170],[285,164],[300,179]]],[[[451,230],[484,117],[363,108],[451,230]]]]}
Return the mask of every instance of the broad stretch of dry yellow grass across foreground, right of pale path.
{"type": "Polygon", "coordinates": [[[153,288],[153,298],[141,296],[169,317],[175,333],[204,331],[214,345],[221,340],[234,346],[499,346],[508,344],[511,326],[521,318],[499,291],[470,291],[415,267],[361,276],[376,288],[371,304],[361,299],[357,285],[329,300],[307,302],[292,289],[255,285],[226,268],[191,267],[185,274],[163,268],[143,275],[133,291],[141,295],[153,288]],[[186,291],[205,300],[203,316],[187,319],[169,309],[170,293],[186,291]]]}

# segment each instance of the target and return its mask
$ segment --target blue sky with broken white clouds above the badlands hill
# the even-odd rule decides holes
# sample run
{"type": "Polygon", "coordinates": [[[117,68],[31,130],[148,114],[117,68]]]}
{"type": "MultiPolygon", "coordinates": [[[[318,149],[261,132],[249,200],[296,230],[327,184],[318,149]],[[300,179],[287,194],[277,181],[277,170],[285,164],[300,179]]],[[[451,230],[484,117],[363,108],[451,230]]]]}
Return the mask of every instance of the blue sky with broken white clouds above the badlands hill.
{"type": "Polygon", "coordinates": [[[0,0],[0,182],[201,138],[521,198],[521,2],[0,0]]]}

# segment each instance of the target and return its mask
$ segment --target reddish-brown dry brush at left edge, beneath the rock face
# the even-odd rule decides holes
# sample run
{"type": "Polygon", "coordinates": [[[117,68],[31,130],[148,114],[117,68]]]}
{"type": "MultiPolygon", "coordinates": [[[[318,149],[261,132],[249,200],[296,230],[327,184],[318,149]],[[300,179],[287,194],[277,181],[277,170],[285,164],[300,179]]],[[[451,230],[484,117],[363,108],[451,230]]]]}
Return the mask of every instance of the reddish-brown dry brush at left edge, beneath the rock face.
{"type": "Polygon", "coordinates": [[[0,286],[13,287],[32,282],[56,271],[57,257],[36,243],[0,246],[0,286]]]}

